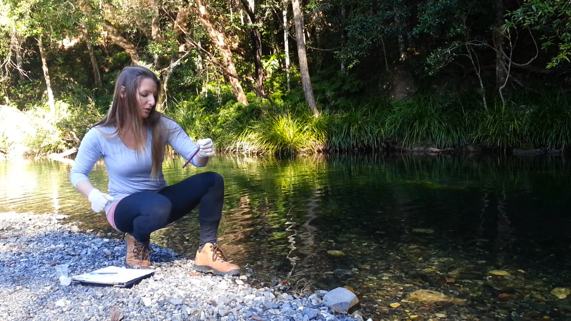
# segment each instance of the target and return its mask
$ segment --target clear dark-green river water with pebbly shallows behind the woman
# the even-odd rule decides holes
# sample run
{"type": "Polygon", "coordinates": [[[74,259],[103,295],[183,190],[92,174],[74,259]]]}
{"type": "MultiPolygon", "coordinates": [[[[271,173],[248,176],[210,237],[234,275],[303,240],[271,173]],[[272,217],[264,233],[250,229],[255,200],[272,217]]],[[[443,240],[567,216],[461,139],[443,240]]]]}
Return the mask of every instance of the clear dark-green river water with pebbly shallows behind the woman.
{"type": "MultiPolygon", "coordinates": [[[[370,316],[390,313],[384,303],[416,288],[457,292],[475,307],[488,306],[464,312],[478,318],[518,320],[514,312],[565,320],[571,312],[569,298],[549,295],[571,287],[571,163],[564,157],[221,155],[207,168],[182,165],[180,158],[166,160],[168,183],[206,170],[224,176],[220,242],[266,284],[348,285],[370,316]],[[490,270],[512,275],[498,278],[490,270]],[[515,296],[498,300],[502,293],[515,296]]],[[[58,212],[84,230],[112,232],[69,183],[70,168],[49,160],[0,162],[0,211],[58,212]]],[[[91,179],[106,189],[103,163],[91,179]]],[[[194,258],[198,231],[194,211],[151,238],[194,258]]]]}

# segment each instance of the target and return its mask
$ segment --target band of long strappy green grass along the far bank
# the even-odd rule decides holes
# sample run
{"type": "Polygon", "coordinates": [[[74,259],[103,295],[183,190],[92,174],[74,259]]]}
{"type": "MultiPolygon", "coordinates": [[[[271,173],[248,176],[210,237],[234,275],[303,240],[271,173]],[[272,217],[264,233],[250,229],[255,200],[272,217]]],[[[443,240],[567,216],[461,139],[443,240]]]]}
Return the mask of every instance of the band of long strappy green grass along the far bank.
{"type": "Polygon", "coordinates": [[[379,101],[323,109],[313,117],[304,105],[262,99],[249,106],[228,102],[216,107],[180,102],[168,113],[191,137],[211,137],[230,153],[294,154],[404,146],[460,148],[467,144],[496,150],[533,143],[536,147],[571,146],[571,106],[564,96],[520,97],[488,110],[477,99],[417,95],[408,101],[379,101]],[[525,103],[520,103],[525,102],[525,103]]]}

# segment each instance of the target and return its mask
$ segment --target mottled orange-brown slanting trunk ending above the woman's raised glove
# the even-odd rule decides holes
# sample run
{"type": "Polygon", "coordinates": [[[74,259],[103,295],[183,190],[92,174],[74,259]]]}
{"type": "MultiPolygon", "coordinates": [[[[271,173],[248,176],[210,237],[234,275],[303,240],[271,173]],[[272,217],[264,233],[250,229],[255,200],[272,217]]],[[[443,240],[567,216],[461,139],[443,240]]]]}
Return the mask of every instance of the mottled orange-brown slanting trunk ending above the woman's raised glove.
{"type": "MultiPolygon", "coordinates": [[[[210,21],[210,15],[206,10],[206,3],[204,3],[204,0],[195,0],[195,3],[197,7],[196,16],[198,17],[200,23],[202,23],[204,26],[204,29],[208,31],[208,35],[210,35],[212,42],[216,43],[220,49],[222,57],[224,58],[226,69],[228,69],[231,74],[238,75],[238,72],[236,72],[236,67],[234,66],[234,59],[232,59],[232,51],[224,40],[222,33],[220,33],[212,21],[210,21]]],[[[244,105],[248,105],[248,99],[246,98],[246,94],[244,94],[244,90],[242,89],[242,85],[240,85],[238,79],[228,76],[228,82],[230,82],[238,102],[243,103],[244,105]]]]}

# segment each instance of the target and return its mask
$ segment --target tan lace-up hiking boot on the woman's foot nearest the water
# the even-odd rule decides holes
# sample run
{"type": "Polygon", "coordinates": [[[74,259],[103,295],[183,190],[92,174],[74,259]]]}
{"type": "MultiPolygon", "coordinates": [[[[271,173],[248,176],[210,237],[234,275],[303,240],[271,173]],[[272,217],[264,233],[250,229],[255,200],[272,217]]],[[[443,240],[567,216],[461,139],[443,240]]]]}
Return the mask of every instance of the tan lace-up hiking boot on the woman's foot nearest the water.
{"type": "Polygon", "coordinates": [[[227,262],[226,254],[220,248],[220,244],[206,243],[202,251],[196,251],[194,269],[215,275],[240,275],[240,267],[227,262]]]}

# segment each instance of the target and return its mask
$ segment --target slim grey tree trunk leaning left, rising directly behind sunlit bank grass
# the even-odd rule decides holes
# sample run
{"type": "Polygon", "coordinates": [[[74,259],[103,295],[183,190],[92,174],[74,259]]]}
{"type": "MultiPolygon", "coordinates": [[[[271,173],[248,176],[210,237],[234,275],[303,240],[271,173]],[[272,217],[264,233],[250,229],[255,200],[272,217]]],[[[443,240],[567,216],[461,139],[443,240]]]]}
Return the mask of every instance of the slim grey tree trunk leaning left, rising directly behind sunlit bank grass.
{"type": "Polygon", "coordinates": [[[307,67],[307,55],[305,54],[305,41],[303,33],[303,16],[301,15],[301,8],[299,0],[291,0],[293,6],[293,22],[295,23],[295,38],[297,42],[297,58],[299,59],[299,70],[301,73],[301,84],[303,85],[303,92],[305,93],[305,101],[313,111],[313,115],[319,116],[317,104],[313,97],[313,87],[311,87],[311,78],[309,78],[309,68],[307,67]]]}

